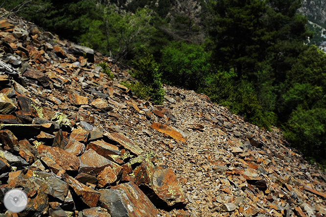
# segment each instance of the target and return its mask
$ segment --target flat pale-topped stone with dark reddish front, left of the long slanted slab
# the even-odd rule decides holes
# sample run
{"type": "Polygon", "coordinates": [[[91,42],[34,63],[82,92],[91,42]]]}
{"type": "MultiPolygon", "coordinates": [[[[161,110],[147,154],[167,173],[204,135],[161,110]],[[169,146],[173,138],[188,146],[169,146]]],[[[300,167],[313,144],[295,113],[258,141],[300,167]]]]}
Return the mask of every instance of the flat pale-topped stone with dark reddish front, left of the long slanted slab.
{"type": "Polygon", "coordinates": [[[103,140],[96,140],[90,142],[87,145],[87,149],[93,149],[95,152],[106,158],[110,154],[121,154],[117,146],[104,142],[103,140]]]}

